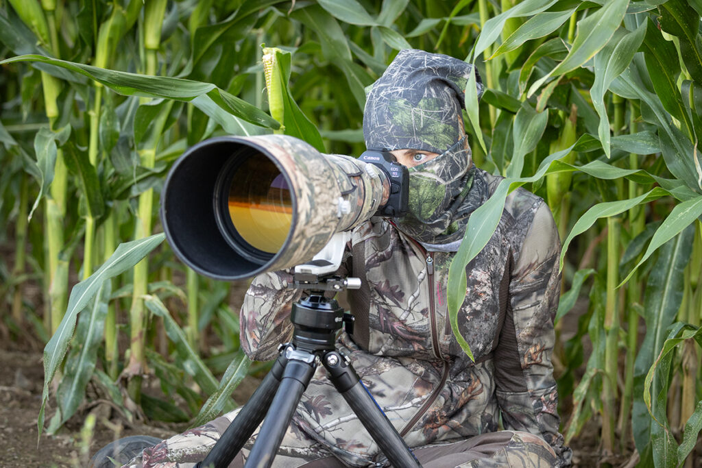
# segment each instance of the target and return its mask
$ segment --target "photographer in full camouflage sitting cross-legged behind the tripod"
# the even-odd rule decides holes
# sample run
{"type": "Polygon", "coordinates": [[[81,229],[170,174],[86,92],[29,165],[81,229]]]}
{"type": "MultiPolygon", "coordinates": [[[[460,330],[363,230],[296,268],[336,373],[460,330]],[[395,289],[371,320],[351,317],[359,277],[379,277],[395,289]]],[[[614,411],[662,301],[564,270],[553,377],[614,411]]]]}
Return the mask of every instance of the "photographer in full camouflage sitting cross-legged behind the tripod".
{"type": "MultiPolygon", "coordinates": [[[[542,199],[512,192],[496,232],[466,268],[458,332],[475,362],[449,324],[449,265],[470,213],[501,180],[471,161],[461,113],[471,69],[405,50],[368,93],[366,146],[390,150],[409,168],[410,213],[353,230],[341,273],[360,277],[362,288],[348,293],[355,333],[341,333],[337,345],[423,466],[568,466],[550,361],[559,241],[542,199]]],[[[478,88],[480,95],[479,79],[478,88]]],[[[241,345],[251,359],[274,359],[289,338],[291,303],[301,294],[286,288],[291,281],[287,272],[263,274],[246,293],[241,345]]],[[[319,368],[307,387],[274,467],[382,464],[325,372],[319,368]]],[[[128,466],[192,466],[235,413],[148,447],[128,466]]],[[[243,465],[251,443],[232,466],[243,465]]]]}

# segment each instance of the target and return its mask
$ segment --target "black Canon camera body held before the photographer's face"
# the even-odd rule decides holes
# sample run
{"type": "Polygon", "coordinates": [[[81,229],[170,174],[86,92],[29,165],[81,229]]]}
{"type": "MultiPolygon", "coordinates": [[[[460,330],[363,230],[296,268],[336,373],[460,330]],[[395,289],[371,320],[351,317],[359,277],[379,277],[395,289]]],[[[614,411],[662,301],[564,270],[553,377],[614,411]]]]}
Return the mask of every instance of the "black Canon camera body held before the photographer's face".
{"type": "Polygon", "coordinates": [[[406,215],[409,209],[409,170],[397,163],[392,154],[384,148],[369,148],[358,159],[380,168],[390,180],[388,202],[378,208],[375,216],[401,218],[406,215]]]}

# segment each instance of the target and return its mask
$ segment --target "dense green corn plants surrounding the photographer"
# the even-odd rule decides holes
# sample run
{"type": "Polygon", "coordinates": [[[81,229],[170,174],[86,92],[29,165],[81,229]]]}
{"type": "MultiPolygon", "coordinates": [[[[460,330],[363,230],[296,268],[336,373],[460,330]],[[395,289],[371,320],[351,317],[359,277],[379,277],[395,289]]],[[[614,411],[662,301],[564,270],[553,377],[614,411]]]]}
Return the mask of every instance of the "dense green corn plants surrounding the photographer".
{"type": "Polygon", "coordinates": [[[0,260],[1,326],[47,343],[48,430],[80,410],[88,382],[128,418],[197,424],[234,407],[260,366],[239,352],[230,285],[187,271],[153,234],[166,171],[218,134],[360,154],[364,87],[413,47],[477,65],[474,159],[507,178],[451,265],[454,325],[464,267],[505,196],[543,196],[564,245],[558,333],[589,297],[555,353],[567,439],[597,414],[603,455],[693,466],[701,15],[699,0],[0,1],[0,243],[14,250],[0,260]],[[142,394],[145,373],[163,399],[142,394]]]}

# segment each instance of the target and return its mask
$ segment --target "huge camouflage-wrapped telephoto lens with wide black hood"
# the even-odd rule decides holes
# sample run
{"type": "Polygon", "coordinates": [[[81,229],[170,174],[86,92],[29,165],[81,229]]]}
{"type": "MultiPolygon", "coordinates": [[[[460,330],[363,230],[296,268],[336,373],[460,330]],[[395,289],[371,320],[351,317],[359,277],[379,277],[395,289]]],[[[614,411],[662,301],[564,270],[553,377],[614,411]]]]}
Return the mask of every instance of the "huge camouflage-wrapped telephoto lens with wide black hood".
{"type": "Polygon", "coordinates": [[[236,280],[311,260],[389,195],[390,181],[376,166],[322,155],[297,138],[218,137],[173,164],[161,222],[185,264],[236,280]]]}

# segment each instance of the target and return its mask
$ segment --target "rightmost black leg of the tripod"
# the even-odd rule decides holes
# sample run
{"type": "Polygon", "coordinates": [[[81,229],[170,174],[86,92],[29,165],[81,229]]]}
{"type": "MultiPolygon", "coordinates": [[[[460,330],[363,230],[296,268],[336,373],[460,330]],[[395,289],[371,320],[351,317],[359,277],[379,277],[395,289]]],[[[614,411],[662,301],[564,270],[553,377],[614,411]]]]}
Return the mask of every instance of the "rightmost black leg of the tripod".
{"type": "Polygon", "coordinates": [[[378,403],[369,394],[350,363],[337,351],[324,355],[322,363],[329,371],[329,380],[358,416],[393,467],[421,467],[416,457],[392,426],[378,403]]]}

